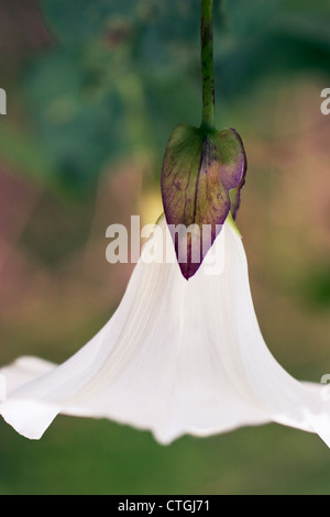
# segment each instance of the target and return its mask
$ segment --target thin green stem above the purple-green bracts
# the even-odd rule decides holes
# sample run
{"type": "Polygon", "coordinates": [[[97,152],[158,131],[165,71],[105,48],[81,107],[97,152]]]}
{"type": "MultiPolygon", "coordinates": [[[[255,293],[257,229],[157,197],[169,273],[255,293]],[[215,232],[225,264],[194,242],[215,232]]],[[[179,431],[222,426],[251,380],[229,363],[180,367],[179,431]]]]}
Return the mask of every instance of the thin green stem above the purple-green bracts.
{"type": "Polygon", "coordinates": [[[201,125],[215,127],[213,0],[201,0],[200,46],[202,78],[201,125]]]}

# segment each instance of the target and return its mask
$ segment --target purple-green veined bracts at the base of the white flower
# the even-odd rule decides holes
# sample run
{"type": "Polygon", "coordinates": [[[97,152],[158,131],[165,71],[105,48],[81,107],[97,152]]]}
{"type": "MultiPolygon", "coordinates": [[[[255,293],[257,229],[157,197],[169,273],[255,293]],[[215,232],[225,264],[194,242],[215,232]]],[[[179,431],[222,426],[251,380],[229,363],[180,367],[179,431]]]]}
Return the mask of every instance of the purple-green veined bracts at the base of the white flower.
{"type": "Polygon", "coordinates": [[[177,260],[186,279],[199,268],[229,211],[233,218],[244,185],[246,158],[233,129],[178,125],[168,141],[162,168],[162,197],[177,260]],[[185,234],[174,231],[182,226],[185,234]],[[207,233],[207,234],[206,234],[207,233]],[[187,246],[185,260],[179,250],[187,246]]]}

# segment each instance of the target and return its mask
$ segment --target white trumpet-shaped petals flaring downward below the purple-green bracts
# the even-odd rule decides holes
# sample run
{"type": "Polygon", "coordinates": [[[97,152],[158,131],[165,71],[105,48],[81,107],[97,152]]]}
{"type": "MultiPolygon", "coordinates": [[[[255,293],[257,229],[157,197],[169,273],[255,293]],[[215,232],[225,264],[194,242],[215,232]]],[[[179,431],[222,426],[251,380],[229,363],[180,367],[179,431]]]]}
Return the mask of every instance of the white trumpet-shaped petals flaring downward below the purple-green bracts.
{"type": "Polygon", "coordinates": [[[61,365],[22,358],[1,370],[3,418],[32,439],[57,414],[109,418],[148,429],[162,443],[275,421],[330,446],[321,385],[293,378],[262,338],[235,229],[227,220],[213,243],[223,252],[218,271],[207,272],[206,261],[187,282],[175,260],[143,260],[164,242],[175,254],[164,219],[160,228],[116,314],[89,343],[61,365]]]}

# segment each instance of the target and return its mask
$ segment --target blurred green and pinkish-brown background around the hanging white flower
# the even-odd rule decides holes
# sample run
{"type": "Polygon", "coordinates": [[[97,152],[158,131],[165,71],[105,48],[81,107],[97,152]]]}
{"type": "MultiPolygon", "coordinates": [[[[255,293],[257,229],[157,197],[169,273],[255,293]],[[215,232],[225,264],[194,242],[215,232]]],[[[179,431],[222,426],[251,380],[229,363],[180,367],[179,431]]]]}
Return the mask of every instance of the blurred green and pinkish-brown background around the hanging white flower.
{"type": "MultiPolygon", "coordinates": [[[[256,314],[298,378],[330,373],[329,0],[216,3],[217,127],[243,138],[238,223],[256,314]]],[[[0,362],[62,362],[109,319],[130,264],[106,229],[161,211],[172,130],[199,124],[199,0],[0,1],[0,362]]],[[[330,451],[276,425],[169,447],[57,417],[0,421],[0,494],[330,494],[330,451]]]]}

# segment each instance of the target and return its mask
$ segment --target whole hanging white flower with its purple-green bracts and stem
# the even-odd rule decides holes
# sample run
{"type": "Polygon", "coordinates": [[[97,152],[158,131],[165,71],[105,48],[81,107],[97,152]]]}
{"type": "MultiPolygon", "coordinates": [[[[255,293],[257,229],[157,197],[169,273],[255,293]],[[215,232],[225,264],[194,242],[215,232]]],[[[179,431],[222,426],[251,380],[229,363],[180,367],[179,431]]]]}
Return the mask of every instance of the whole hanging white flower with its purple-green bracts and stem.
{"type": "Polygon", "coordinates": [[[26,356],[0,371],[0,414],[28,438],[41,438],[64,414],[147,429],[161,443],[274,421],[316,432],[330,447],[324,386],[283,370],[255,317],[232,220],[245,152],[234,130],[215,128],[212,0],[201,1],[201,125],[180,124],[168,141],[165,217],[117,311],[63,364],[26,356]],[[180,235],[169,228],[178,224],[210,230],[206,246],[205,235],[191,231],[183,262],[180,235]]]}

